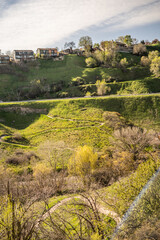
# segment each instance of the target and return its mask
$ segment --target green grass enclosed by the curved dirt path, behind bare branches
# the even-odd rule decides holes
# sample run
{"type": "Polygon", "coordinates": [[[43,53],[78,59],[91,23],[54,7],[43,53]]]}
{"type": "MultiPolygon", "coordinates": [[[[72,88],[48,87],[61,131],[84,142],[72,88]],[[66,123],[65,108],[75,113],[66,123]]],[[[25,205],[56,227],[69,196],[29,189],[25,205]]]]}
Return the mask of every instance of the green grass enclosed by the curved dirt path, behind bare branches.
{"type": "MultiPolygon", "coordinates": [[[[83,215],[83,200],[80,200],[79,198],[76,198],[76,195],[72,194],[72,195],[65,195],[65,196],[61,196],[61,197],[53,197],[51,199],[49,199],[48,201],[48,207],[51,208],[52,206],[55,206],[57,203],[61,202],[62,200],[69,198],[69,197],[74,197],[73,199],[67,201],[66,203],[62,204],[61,206],[59,206],[55,212],[53,212],[51,214],[52,218],[54,219],[54,221],[56,221],[56,223],[60,223],[59,220],[60,219],[65,219],[65,227],[68,227],[68,229],[70,229],[70,231],[72,232],[72,236],[74,236],[76,234],[76,231],[74,231],[71,226],[73,226],[73,228],[75,228],[77,231],[80,231],[80,222],[79,222],[79,217],[78,214],[75,213],[79,213],[80,215],[83,215]],[[75,205],[76,203],[76,205],[75,205]],[[79,205],[80,204],[80,205],[79,205]],[[60,216],[60,218],[59,218],[60,216]]],[[[36,203],[35,207],[37,209],[37,211],[40,211],[41,209],[44,209],[44,203],[36,203]]],[[[114,228],[116,226],[116,222],[110,217],[110,216],[106,216],[104,214],[99,213],[99,216],[101,218],[101,221],[98,223],[98,219],[94,219],[94,214],[93,211],[91,209],[87,208],[86,211],[86,219],[90,219],[92,221],[92,224],[95,226],[95,228],[97,229],[97,226],[103,228],[103,231],[107,236],[110,236],[113,231],[114,228]],[[88,215],[87,215],[88,213],[88,215]],[[96,226],[96,224],[98,224],[96,226]]],[[[50,218],[46,218],[46,222],[49,222],[50,218]]],[[[84,219],[82,219],[82,229],[81,231],[83,232],[83,235],[86,235],[86,232],[90,232],[91,234],[91,229],[90,227],[86,226],[86,222],[84,221],[84,219]],[[87,229],[86,229],[87,227],[87,229]]],[[[43,226],[45,227],[45,223],[43,224],[43,226]]],[[[67,230],[67,229],[66,229],[67,230]]],[[[87,236],[87,235],[86,235],[87,236]]],[[[108,239],[108,238],[106,238],[108,239]]]]}

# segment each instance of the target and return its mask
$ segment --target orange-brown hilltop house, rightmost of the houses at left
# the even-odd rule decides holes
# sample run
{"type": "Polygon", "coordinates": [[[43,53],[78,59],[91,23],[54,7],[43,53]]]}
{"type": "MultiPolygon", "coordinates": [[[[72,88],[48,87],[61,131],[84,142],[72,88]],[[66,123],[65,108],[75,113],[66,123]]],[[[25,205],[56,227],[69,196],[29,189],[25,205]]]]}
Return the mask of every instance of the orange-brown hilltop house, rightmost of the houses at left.
{"type": "Polygon", "coordinates": [[[40,58],[54,58],[58,57],[59,53],[56,48],[38,48],[37,56],[40,58]]]}

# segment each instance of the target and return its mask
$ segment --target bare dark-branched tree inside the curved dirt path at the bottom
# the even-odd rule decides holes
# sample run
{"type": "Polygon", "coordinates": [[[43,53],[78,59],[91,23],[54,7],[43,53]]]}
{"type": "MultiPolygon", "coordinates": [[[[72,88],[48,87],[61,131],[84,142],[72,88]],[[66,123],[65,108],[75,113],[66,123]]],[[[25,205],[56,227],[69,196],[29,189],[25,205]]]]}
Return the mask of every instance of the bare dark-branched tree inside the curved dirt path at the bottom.
{"type": "Polygon", "coordinates": [[[114,229],[113,222],[106,221],[100,214],[97,198],[86,194],[64,204],[57,212],[48,212],[45,224],[47,229],[40,225],[43,239],[53,240],[92,239],[95,234],[98,239],[105,239],[114,229]]]}

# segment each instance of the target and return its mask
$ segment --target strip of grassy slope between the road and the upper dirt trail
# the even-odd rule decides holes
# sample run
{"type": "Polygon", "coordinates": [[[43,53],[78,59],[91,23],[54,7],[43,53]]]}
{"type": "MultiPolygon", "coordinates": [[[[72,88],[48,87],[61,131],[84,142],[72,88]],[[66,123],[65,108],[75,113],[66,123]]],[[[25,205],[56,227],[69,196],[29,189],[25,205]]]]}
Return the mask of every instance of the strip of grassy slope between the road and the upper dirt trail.
{"type": "MultiPolygon", "coordinates": [[[[119,112],[131,121],[159,124],[159,95],[1,103],[1,124],[25,129],[41,119],[41,114],[82,121],[103,121],[103,111],[119,112]],[[17,114],[20,113],[20,114],[17,114]]],[[[43,117],[43,116],[42,116],[43,117]]],[[[44,119],[48,117],[44,116],[44,119]]],[[[62,119],[59,119],[62,121],[62,119]]],[[[63,123],[64,124],[64,123],[63,123]]],[[[72,123],[73,124],[73,123],[72,123]]]]}

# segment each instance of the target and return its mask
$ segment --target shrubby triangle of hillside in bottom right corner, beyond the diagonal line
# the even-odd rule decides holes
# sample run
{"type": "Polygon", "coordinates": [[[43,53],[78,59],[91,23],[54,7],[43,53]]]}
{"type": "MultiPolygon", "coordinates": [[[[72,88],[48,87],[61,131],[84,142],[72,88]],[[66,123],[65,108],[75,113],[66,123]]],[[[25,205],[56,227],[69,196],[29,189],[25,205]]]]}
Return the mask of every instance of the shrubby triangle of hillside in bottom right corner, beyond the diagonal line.
{"type": "Polygon", "coordinates": [[[126,217],[115,239],[159,239],[160,237],[160,174],[145,189],[144,193],[126,217]]]}

